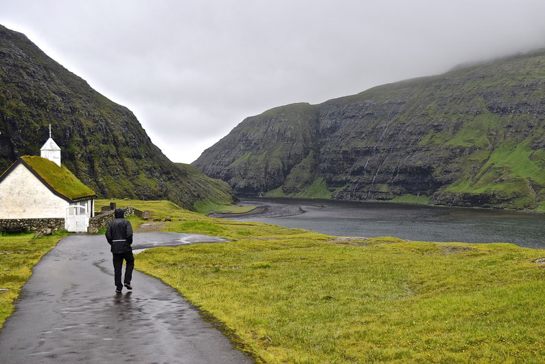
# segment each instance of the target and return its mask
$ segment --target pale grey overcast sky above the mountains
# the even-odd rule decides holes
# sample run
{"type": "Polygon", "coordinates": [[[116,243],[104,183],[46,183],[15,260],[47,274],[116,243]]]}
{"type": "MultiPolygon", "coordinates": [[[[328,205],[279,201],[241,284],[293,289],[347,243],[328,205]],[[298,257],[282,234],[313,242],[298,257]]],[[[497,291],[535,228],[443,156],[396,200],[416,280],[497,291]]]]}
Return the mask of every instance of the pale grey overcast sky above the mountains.
{"type": "Polygon", "coordinates": [[[244,117],[545,47],[544,0],[0,0],[174,162],[244,117]]]}

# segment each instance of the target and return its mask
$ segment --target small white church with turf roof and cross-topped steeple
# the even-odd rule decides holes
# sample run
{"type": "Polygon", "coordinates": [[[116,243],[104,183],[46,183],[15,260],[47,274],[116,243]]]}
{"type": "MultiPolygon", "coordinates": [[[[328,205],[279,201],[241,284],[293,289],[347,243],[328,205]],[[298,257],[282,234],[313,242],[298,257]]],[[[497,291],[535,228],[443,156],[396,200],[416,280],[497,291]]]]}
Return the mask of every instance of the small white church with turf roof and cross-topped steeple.
{"type": "MultiPolygon", "coordinates": [[[[68,231],[82,232],[94,214],[95,192],[60,164],[60,148],[51,138],[40,157],[25,155],[0,175],[0,220],[21,224],[36,220],[60,222],[68,231]]],[[[58,223],[59,225],[59,223],[58,223]]]]}

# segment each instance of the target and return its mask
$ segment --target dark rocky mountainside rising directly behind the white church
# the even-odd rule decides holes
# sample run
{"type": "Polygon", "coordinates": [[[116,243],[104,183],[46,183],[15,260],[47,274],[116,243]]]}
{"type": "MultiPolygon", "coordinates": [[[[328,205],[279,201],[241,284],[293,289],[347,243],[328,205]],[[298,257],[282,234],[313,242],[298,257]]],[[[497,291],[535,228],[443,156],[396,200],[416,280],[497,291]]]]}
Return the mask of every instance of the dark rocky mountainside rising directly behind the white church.
{"type": "Polygon", "coordinates": [[[0,170],[39,155],[53,126],[62,163],[103,198],[233,201],[231,187],[172,163],[128,109],[0,25],[0,170]]]}

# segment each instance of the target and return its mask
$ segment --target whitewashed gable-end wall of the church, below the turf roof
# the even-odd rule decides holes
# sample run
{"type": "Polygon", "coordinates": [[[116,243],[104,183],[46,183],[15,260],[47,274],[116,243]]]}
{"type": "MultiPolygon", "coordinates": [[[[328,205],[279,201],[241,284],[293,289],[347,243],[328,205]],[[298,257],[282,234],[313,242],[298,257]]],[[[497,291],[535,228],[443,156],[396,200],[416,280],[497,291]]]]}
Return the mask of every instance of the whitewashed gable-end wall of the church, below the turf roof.
{"type": "Polygon", "coordinates": [[[0,219],[65,218],[68,205],[23,164],[0,183],[0,219]]]}

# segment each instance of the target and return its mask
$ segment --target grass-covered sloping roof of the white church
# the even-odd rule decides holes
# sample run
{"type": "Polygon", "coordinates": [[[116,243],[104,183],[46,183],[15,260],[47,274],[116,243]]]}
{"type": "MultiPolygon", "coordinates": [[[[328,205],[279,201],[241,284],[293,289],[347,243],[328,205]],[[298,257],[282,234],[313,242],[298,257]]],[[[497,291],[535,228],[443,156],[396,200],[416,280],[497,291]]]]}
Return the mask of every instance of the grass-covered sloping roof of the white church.
{"type": "Polygon", "coordinates": [[[42,157],[24,155],[23,161],[40,176],[53,190],[71,200],[96,196],[91,188],[87,187],[74,176],[65,166],[57,166],[53,161],[42,157]]]}

